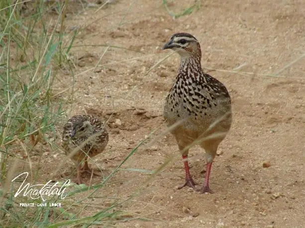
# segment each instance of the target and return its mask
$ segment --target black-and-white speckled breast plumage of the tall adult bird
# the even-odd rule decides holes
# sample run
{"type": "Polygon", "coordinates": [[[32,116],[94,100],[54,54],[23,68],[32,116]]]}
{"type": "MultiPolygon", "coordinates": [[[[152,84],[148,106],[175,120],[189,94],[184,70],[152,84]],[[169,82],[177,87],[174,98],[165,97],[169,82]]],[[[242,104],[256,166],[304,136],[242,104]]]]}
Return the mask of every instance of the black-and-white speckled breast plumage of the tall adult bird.
{"type": "MultiPolygon", "coordinates": [[[[231,99],[225,86],[202,71],[196,71],[194,59],[180,67],[165,102],[164,117],[169,126],[183,123],[176,131],[203,133],[208,126],[226,113],[226,121],[219,125],[227,131],[231,125],[231,99]]],[[[221,129],[219,129],[221,131],[221,129]]],[[[188,134],[191,135],[191,134],[188,134]]]]}

